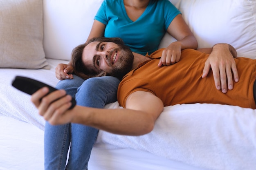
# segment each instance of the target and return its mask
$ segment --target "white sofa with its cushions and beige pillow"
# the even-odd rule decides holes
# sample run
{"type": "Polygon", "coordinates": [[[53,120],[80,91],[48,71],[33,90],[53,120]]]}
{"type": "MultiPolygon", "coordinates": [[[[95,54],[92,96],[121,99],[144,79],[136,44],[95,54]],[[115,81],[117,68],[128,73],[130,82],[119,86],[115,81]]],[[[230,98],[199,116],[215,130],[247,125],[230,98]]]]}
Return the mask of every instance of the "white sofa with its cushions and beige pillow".
{"type": "MultiPolygon", "coordinates": [[[[42,117],[16,75],[55,86],[55,67],[88,37],[103,0],[0,0],[0,169],[43,170],[42,117]]],[[[256,0],[171,0],[198,40],[256,59],[256,0]]],[[[174,41],[166,35],[160,47],[174,41]]],[[[119,108],[117,102],[106,108],[119,108]]],[[[139,137],[100,130],[90,170],[254,170],[256,110],[219,104],[168,106],[139,137]]]]}

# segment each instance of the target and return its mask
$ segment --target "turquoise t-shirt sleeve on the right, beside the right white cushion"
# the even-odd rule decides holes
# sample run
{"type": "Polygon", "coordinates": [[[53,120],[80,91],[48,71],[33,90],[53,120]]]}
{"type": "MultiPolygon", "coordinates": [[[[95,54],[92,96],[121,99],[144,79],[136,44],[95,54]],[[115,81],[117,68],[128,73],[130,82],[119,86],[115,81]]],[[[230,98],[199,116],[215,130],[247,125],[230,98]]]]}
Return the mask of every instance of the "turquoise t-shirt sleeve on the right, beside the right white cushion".
{"type": "Polygon", "coordinates": [[[168,0],[164,1],[163,4],[164,9],[164,21],[165,21],[165,29],[168,29],[168,26],[171,24],[173,19],[181,12],[168,0]]]}

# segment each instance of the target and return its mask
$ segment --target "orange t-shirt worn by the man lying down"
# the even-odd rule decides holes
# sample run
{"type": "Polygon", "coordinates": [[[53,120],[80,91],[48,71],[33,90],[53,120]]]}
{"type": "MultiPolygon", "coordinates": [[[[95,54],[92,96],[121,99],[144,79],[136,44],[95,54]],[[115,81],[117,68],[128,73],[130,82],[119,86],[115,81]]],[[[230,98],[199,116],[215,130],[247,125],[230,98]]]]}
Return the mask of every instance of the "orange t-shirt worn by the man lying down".
{"type": "MultiPolygon", "coordinates": [[[[150,57],[162,55],[162,49],[150,57]]],[[[158,67],[159,59],[149,60],[126,74],[120,82],[117,99],[125,108],[127,97],[135,91],[147,91],[159,97],[164,106],[175,104],[212,103],[256,108],[253,84],[256,77],[256,60],[235,58],[239,82],[233,90],[222,93],[215,87],[213,73],[202,78],[204,63],[209,54],[193,49],[182,50],[179,62],[158,67]]],[[[148,56],[149,57],[149,56],[148,56]]]]}

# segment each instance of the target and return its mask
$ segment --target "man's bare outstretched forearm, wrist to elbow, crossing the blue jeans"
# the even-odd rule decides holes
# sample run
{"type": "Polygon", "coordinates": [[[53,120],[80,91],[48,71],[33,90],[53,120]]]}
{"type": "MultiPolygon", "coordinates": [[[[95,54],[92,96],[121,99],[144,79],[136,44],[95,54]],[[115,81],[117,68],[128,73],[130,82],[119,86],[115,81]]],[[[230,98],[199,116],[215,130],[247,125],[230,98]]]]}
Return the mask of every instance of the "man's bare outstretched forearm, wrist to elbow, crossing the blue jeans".
{"type": "Polygon", "coordinates": [[[98,109],[76,106],[72,123],[84,124],[120,135],[144,135],[153,130],[155,120],[139,110],[98,109]]]}

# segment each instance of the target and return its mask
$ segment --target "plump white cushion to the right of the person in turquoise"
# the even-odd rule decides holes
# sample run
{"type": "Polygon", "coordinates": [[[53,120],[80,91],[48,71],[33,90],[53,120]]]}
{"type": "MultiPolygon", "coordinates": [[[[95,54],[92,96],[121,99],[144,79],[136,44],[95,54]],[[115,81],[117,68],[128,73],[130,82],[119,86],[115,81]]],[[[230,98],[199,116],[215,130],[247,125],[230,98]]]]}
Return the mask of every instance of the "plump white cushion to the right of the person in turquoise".
{"type": "Polygon", "coordinates": [[[256,0],[181,0],[180,11],[199,48],[225,42],[256,59],[256,0]]]}

